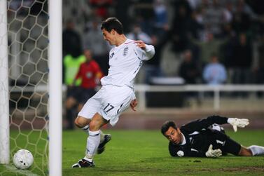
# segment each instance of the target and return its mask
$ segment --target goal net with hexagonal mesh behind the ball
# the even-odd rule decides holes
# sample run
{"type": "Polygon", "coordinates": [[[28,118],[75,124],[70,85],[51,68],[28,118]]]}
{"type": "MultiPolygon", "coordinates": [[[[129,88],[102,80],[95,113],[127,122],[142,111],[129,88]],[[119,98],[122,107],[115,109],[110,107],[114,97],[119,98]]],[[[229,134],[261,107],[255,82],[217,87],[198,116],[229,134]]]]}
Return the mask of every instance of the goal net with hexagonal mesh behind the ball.
{"type": "MultiPolygon", "coordinates": [[[[3,1],[6,0],[1,0],[0,6],[3,6],[3,1]]],[[[50,123],[48,0],[8,0],[6,7],[6,34],[1,31],[5,24],[3,7],[0,12],[0,74],[7,71],[7,78],[1,74],[0,79],[0,112],[5,113],[9,104],[9,113],[7,118],[1,114],[0,116],[3,121],[9,116],[9,121],[8,128],[2,121],[0,122],[1,140],[8,138],[0,142],[2,150],[0,154],[4,156],[8,152],[9,156],[6,159],[0,156],[1,163],[4,163],[0,165],[0,175],[49,175],[48,150],[51,137],[48,129],[50,123]],[[8,41],[7,63],[3,43],[5,39],[8,41]],[[8,86],[3,86],[6,80],[8,86]],[[6,93],[7,102],[4,101],[6,93]],[[8,149],[5,149],[6,146],[8,149]],[[18,149],[28,149],[32,152],[34,163],[29,170],[17,170],[13,166],[13,154],[18,149]]]]}

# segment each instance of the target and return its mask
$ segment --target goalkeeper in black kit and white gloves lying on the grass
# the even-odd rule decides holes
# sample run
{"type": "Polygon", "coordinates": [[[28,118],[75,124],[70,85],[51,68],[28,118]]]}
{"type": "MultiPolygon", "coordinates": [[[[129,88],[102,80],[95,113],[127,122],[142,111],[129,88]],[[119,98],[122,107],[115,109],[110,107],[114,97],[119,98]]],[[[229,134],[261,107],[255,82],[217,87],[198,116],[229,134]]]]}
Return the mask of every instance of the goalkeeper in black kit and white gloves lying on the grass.
{"type": "Polygon", "coordinates": [[[219,125],[230,123],[235,131],[244,128],[248,119],[209,116],[177,128],[174,121],[167,121],[161,133],[169,140],[169,154],[172,156],[195,156],[216,158],[224,154],[237,156],[256,156],[264,154],[264,147],[251,145],[243,147],[225,135],[219,125]]]}

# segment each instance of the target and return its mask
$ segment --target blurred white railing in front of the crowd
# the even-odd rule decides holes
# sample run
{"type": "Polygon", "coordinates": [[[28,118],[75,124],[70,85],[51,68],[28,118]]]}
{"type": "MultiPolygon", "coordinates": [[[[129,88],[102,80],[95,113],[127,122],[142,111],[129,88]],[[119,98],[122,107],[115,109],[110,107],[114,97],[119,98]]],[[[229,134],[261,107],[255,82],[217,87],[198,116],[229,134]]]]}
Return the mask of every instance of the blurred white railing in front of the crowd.
{"type": "MultiPolygon", "coordinates": [[[[43,92],[47,90],[47,86],[36,87],[11,87],[11,93],[15,92],[43,92]]],[[[62,86],[62,91],[66,91],[67,87],[62,86]]],[[[263,91],[264,85],[221,85],[221,86],[208,86],[208,85],[184,85],[184,86],[150,86],[146,84],[137,84],[134,90],[138,93],[137,99],[139,100],[139,110],[146,109],[146,92],[213,92],[214,93],[214,110],[220,109],[220,93],[221,92],[256,92],[263,91]]]]}

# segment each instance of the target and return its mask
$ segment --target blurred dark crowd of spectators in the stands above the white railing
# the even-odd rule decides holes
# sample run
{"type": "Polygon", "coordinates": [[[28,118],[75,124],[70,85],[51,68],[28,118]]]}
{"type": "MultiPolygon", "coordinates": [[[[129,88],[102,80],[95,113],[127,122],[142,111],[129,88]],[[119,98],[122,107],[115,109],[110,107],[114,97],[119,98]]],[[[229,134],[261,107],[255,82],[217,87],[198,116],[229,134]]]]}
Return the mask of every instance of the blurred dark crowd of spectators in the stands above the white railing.
{"type": "MultiPolygon", "coordinates": [[[[71,4],[65,1],[64,6],[71,4]]],[[[99,25],[115,16],[127,38],[155,46],[140,83],[156,76],[180,76],[190,84],[264,83],[263,8],[263,1],[244,0],[89,0],[81,8],[72,6],[64,18],[63,52],[78,57],[89,49],[107,74],[111,46],[99,25]],[[174,74],[161,66],[166,46],[178,63],[174,74]]]]}

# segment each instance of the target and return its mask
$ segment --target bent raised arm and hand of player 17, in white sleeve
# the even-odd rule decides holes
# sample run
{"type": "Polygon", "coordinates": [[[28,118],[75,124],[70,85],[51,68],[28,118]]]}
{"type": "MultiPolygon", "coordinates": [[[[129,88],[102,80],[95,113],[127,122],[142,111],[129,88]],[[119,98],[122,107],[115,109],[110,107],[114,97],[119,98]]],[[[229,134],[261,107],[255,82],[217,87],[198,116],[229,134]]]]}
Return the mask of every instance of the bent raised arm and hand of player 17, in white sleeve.
{"type": "Polygon", "coordinates": [[[134,41],[137,44],[136,54],[140,60],[150,60],[155,55],[155,48],[152,45],[147,45],[144,41],[134,41]]]}

